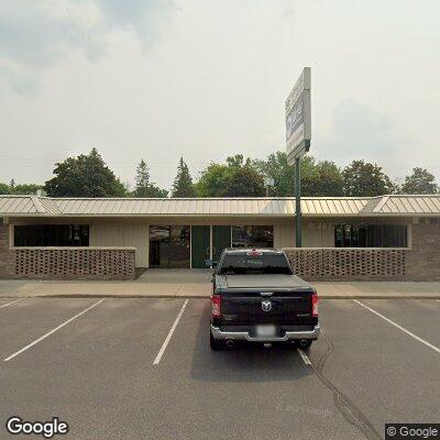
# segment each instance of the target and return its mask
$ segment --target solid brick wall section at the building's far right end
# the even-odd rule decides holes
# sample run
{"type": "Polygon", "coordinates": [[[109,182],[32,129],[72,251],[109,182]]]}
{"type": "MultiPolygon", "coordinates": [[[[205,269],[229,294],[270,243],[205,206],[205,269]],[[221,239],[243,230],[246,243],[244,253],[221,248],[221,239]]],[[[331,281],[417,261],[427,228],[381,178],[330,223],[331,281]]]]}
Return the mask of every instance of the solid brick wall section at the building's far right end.
{"type": "Polygon", "coordinates": [[[411,235],[406,279],[440,280],[440,219],[413,224],[411,235]]]}

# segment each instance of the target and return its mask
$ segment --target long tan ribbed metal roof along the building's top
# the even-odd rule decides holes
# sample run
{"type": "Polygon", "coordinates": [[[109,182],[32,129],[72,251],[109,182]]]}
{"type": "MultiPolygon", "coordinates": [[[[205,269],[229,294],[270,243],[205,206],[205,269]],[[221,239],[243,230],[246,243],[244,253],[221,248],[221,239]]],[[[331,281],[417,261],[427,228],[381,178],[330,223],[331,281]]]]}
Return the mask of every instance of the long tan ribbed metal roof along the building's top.
{"type": "MultiPolygon", "coordinates": [[[[440,195],[305,197],[305,218],[439,217],[440,195]]],[[[0,196],[0,217],[14,218],[295,218],[292,197],[279,198],[48,198],[0,196]]]]}

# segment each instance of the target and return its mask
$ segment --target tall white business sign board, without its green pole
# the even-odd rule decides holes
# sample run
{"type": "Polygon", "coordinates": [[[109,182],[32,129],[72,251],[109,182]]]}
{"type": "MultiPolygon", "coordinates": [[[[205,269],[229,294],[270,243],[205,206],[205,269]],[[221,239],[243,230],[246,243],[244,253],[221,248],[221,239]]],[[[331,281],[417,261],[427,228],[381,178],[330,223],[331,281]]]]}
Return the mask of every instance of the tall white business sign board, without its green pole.
{"type": "Polygon", "coordinates": [[[309,151],[310,138],[310,67],[305,67],[286,99],[286,153],[289,165],[309,151]]]}

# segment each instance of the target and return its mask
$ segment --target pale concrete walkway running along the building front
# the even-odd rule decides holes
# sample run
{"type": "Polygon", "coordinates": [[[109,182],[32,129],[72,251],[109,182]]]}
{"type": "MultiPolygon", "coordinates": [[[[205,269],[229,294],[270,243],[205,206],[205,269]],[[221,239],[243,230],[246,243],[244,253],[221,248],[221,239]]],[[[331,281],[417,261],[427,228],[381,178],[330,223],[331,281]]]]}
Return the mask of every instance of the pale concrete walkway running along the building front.
{"type": "MultiPolygon", "coordinates": [[[[211,293],[209,270],[148,270],[129,282],[0,279],[0,298],[164,297],[204,298],[211,293]]],[[[321,298],[435,298],[440,282],[317,282],[321,298]]]]}

